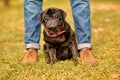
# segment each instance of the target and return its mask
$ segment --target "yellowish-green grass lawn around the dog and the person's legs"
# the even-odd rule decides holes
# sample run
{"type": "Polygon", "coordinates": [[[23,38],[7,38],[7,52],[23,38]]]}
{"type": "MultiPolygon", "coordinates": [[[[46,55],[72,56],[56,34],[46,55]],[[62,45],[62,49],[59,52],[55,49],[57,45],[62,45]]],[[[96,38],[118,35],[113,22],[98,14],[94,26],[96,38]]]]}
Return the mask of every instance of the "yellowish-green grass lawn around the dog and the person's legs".
{"type": "MultiPolygon", "coordinates": [[[[73,26],[69,0],[51,2],[44,0],[43,8],[64,9],[68,14],[66,20],[73,26]]],[[[119,4],[113,0],[105,2],[114,6],[119,4]]],[[[0,6],[0,80],[120,80],[120,13],[116,9],[99,9],[100,4],[106,5],[104,0],[92,0],[91,3],[92,52],[99,61],[96,67],[84,65],[80,59],[78,66],[66,60],[50,67],[45,62],[42,46],[37,63],[21,64],[26,52],[23,1],[13,0],[8,8],[0,6]],[[95,4],[99,4],[97,8],[94,8],[95,4]]],[[[41,38],[41,45],[42,41],[41,38]]]]}

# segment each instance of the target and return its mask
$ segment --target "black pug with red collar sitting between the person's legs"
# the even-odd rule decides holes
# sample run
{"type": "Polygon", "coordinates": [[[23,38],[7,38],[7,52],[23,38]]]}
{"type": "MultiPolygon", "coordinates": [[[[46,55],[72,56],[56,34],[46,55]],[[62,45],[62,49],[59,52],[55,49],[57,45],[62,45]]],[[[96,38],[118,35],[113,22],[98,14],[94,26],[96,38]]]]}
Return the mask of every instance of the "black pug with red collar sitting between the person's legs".
{"type": "Polygon", "coordinates": [[[73,59],[77,65],[77,43],[75,32],[65,21],[66,13],[58,8],[44,10],[39,18],[44,26],[44,53],[47,63],[53,65],[56,60],[73,59]]]}

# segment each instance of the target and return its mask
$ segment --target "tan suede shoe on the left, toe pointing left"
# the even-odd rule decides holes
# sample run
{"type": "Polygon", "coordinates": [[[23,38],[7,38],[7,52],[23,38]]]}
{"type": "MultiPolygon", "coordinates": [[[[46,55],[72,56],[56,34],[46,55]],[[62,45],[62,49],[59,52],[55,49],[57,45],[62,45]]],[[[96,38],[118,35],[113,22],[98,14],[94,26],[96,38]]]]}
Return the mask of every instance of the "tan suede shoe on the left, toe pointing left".
{"type": "Polygon", "coordinates": [[[27,50],[25,57],[22,60],[22,64],[33,64],[37,62],[38,51],[34,48],[27,50]]]}

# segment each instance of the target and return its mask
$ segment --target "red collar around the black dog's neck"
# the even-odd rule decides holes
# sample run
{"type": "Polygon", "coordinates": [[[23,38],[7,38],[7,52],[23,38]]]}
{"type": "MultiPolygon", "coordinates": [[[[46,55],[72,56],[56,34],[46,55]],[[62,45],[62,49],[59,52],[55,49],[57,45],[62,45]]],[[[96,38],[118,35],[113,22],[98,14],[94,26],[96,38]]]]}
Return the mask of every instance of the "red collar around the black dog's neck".
{"type": "Polygon", "coordinates": [[[44,27],[44,31],[47,34],[47,36],[55,38],[55,37],[58,37],[58,36],[62,35],[65,32],[64,27],[65,26],[64,26],[64,23],[63,23],[62,26],[61,26],[61,30],[58,33],[56,33],[56,34],[49,34],[45,27],[44,27]]]}

